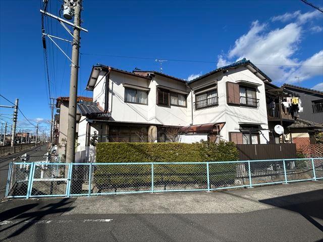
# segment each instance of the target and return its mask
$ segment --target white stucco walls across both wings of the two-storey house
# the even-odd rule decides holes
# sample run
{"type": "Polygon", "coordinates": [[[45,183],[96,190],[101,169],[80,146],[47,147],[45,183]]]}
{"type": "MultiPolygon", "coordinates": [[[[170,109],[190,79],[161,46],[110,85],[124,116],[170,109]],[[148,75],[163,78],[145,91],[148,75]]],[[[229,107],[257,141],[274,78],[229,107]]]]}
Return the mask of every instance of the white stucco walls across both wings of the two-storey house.
{"type": "MultiPolygon", "coordinates": [[[[100,73],[93,90],[93,101],[99,102],[103,108],[105,106],[106,79],[105,77],[102,78],[104,74],[104,72],[100,73]]],[[[191,87],[196,90],[198,86],[205,86],[206,84],[211,83],[217,83],[218,85],[219,105],[193,110],[193,125],[225,122],[226,125],[223,127],[220,135],[223,139],[229,140],[229,132],[239,131],[239,122],[261,124],[261,128],[264,130],[261,131],[260,134],[260,143],[268,143],[269,134],[268,130],[266,130],[268,129],[268,123],[263,81],[257,78],[246,67],[240,67],[238,69],[229,70],[229,72],[226,72],[225,74],[214,74],[191,84],[191,87]],[[237,82],[240,80],[260,85],[256,87],[256,97],[259,99],[259,106],[257,108],[227,104],[226,82],[237,82]]],[[[195,101],[195,94],[193,93],[193,100],[191,100],[190,91],[190,88],[188,88],[185,83],[158,75],[154,76],[150,81],[123,73],[111,72],[109,77],[109,111],[111,112],[112,120],[119,122],[188,126],[192,122],[191,105],[192,102],[195,101]],[[148,93],[148,105],[125,103],[125,88],[123,84],[150,88],[148,93]],[[158,85],[188,92],[187,107],[165,107],[157,105],[156,87],[158,85]]]]}

